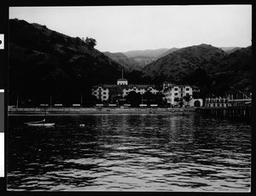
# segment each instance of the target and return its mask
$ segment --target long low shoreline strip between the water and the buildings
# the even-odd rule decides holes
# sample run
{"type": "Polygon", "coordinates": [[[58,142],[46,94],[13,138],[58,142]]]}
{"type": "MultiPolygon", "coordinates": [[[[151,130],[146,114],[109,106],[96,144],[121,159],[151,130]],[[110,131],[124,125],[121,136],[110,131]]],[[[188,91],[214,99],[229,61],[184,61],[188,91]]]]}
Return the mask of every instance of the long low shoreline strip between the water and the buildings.
{"type": "Polygon", "coordinates": [[[21,115],[36,115],[47,116],[55,115],[87,115],[87,114],[118,114],[118,113],[171,113],[171,112],[195,112],[195,107],[183,107],[183,108],[160,108],[160,107],[22,107],[22,108],[9,108],[9,116],[21,116],[21,115]]]}

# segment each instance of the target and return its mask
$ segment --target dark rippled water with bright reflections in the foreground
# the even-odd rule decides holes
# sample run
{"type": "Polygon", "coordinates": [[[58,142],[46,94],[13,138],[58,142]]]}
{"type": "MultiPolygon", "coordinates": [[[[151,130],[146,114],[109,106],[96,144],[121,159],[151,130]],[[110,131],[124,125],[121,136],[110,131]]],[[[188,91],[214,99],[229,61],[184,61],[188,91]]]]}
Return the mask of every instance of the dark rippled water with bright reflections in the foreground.
{"type": "Polygon", "coordinates": [[[251,187],[249,124],[191,113],[9,117],[8,190],[218,191],[251,187]],[[85,124],[79,127],[79,124],[85,124]]]}

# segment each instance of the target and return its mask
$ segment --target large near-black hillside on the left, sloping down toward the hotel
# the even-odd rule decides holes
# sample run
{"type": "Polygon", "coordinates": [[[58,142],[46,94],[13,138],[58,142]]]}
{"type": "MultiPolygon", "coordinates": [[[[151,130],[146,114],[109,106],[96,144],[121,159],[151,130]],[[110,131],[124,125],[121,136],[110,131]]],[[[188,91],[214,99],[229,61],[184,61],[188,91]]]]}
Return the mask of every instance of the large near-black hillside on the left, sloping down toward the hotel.
{"type": "Polygon", "coordinates": [[[46,26],[9,20],[9,92],[43,98],[49,94],[72,99],[90,95],[94,84],[115,83],[121,65],[91,48],[79,37],[68,37],[46,26]]]}

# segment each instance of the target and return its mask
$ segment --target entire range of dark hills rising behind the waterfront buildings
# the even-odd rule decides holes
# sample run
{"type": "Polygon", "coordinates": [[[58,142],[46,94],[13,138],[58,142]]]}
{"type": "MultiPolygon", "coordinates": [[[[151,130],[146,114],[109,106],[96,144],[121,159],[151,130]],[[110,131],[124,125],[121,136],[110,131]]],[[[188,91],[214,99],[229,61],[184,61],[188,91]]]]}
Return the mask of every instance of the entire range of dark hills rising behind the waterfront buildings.
{"type": "MultiPolygon", "coordinates": [[[[208,84],[207,88],[215,91],[230,87],[252,89],[252,47],[228,54],[202,43],[175,49],[159,59],[148,57],[149,64],[140,71],[131,66],[131,61],[134,65],[138,63],[123,53],[102,53],[89,47],[80,37],[68,37],[46,26],[9,20],[9,30],[9,92],[12,99],[19,92],[31,95],[35,91],[38,97],[44,97],[43,92],[47,95],[65,92],[73,97],[83,94],[90,100],[91,86],[115,84],[122,68],[130,84],[190,81],[190,84],[208,84]],[[205,80],[199,82],[198,76],[205,80]]],[[[139,58],[143,56],[137,55],[139,58]]]]}

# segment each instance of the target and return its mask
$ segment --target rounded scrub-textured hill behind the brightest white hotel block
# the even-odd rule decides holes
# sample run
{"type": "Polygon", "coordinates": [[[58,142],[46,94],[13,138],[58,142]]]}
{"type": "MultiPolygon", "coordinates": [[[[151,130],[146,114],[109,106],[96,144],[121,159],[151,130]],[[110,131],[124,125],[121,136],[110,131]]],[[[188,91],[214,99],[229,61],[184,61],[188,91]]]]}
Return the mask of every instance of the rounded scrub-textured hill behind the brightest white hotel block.
{"type": "Polygon", "coordinates": [[[212,70],[212,64],[218,63],[225,53],[222,49],[212,47],[211,45],[201,44],[190,46],[183,49],[177,49],[169,55],[161,57],[152,64],[143,68],[145,77],[151,77],[153,80],[169,80],[174,83],[180,83],[183,77],[197,68],[203,67],[207,72],[212,70]]]}

